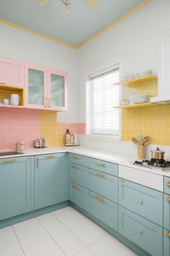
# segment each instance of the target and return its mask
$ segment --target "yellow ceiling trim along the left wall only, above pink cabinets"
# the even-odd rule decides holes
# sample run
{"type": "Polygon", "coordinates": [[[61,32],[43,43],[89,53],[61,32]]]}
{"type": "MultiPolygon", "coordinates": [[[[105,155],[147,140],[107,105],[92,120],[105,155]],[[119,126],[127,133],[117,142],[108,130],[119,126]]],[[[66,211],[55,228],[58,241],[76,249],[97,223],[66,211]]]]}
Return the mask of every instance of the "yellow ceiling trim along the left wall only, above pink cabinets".
{"type": "Polygon", "coordinates": [[[4,24],[6,24],[6,25],[9,25],[9,26],[11,26],[11,27],[16,27],[16,28],[18,28],[19,30],[24,30],[24,31],[26,31],[26,32],[28,32],[28,33],[31,33],[31,34],[34,34],[34,35],[38,35],[38,36],[40,36],[41,38],[45,38],[45,39],[51,40],[51,41],[53,41],[53,42],[55,42],[55,43],[60,43],[60,44],[62,44],[63,46],[68,46],[68,47],[71,47],[71,48],[74,48],[74,49],[77,48],[77,46],[74,46],[74,45],[71,44],[71,43],[66,43],[66,42],[64,42],[64,41],[62,41],[62,40],[59,40],[59,39],[57,39],[57,38],[52,38],[51,36],[48,36],[48,35],[39,33],[39,32],[37,32],[37,31],[31,30],[30,28],[27,28],[27,27],[22,27],[22,26],[20,26],[20,25],[15,24],[15,23],[9,22],[8,20],[0,19],[0,22],[1,22],[1,23],[4,23],[4,24]]]}

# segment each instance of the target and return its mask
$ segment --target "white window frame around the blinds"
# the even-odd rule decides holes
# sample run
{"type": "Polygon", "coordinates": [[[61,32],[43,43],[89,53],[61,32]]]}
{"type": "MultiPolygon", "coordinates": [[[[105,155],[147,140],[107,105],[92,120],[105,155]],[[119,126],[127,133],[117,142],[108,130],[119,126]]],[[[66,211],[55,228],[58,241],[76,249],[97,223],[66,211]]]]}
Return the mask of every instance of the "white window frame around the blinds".
{"type": "MultiPolygon", "coordinates": [[[[112,69],[116,69],[118,68],[119,69],[119,72],[120,72],[120,64],[115,64],[114,66],[111,66],[111,67],[108,67],[107,69],[102,69],[100,70],[99,72],[94,72],[93,74],[89,74],[88,75],[88,79],[87,80],[90,80],[91,77],[96,77],[97,75],[99,74],[104,74],[105,72],[109,72],[111,71],[112,69]]],[[[87,93],[87,90],[86,90],[86,93],[87,93]]],[[[87,97],[87,95],[86,95],[87,97]]],[[[119,103],[120,103],[120,98],[121,98],[121,88],[119,90],[119,103]]],[[[121,112],[119,111],[119,132],[117,135],[114,135],[114,134],[97,134],[97,133],[91,133],[91,128],[89,129],[89,127],[87,127],[87,125],[89,124],[89,121],[87,121],[87,119],[89,118],[89,116],[87,116],[87,98],[86,98],[86,138],[87,139],[92,139],[92,140],[104,140],[104,141],[109,141],[109,142],[120,142],[120,138],[121,138],[121,112]],[[88,123],[88,124],[87,124],[88,123]]]]}

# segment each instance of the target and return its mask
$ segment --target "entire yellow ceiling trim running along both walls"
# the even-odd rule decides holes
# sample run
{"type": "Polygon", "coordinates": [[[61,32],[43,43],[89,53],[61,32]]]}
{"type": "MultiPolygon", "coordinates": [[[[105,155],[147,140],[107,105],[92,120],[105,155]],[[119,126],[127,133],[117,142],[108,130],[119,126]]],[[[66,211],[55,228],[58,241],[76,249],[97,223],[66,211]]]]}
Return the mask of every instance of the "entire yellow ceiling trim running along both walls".
{"type": "Polygon", "coordinates": [[[73,44],[71,43],[66,43],[62,40],[59,40],[57,38],[53,38],[51,36],[48,36],[48,35],[45,35],[45,34],[42,34],[42,33],[39,33],[35,30],[31,30],[30,28],[27,28],[27,27],[22,27],[20,25],[17,25],[15,23],[12,23],[12,22],[9,22],[8,20],[4,20],[4,19],[0,19],[0,22],[1,23],[4,23],[6,25],[9,25],[11,27],[16,27],[18,28],[19,30],[24,30],[28,33],[31,33],[31,34],[34,34],[34,35],[38,35],[40,36],[41,38],[45,38],[45,39],[48,39],[48,40],[51,40],[55,43],[60,43],[62,44],[63,46],[68,46],[68,47],[71,47],[73,49],[77,49],[77,48],[80,48],[81,46],[84,46],[84,44],[88,43],[89,41],[91,41],[93,38],[96,38],[97,35],[100,35],[102,33],[104,33],[105,31],[109,30],[111,27],[117,25],[117,23],[121,22],[122,20],[125,20],[127,17],[129,17],[131,14],[137,12],[139,9],[141,9],[142,7],[145,7],[146,4],[150,3],[151,1],[153,0],[144,0],[142,3],[138,4],[137,7],[134,7],[133,9],[131,9],[129,12],[123,14],[120,18],[118,18],[117,20],[115,20],[114,22],[110,23],[109,25],[107,25],[106,27],[102,28],[102,30],[99,30],[97,33],[94,33],[94,35],[91,35],[91,37],[87,38],[86,40],[84,40],[82,43],[79,43],[79,45],[77,46],[74,46],[73,44]]]}

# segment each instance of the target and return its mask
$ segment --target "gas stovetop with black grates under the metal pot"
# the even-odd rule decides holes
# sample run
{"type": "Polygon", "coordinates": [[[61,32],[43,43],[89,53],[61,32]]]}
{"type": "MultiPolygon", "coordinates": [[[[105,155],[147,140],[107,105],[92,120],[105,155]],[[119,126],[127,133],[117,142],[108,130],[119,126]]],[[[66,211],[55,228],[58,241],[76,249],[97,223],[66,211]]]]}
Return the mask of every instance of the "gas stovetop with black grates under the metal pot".
{"type": "Polygon", "coordinates": [[[135,166],[143,166],[146,168],[157,169],[159,171],[170,171],[170,162],[165,160],[136,160],[133,162],[135,166]]]}

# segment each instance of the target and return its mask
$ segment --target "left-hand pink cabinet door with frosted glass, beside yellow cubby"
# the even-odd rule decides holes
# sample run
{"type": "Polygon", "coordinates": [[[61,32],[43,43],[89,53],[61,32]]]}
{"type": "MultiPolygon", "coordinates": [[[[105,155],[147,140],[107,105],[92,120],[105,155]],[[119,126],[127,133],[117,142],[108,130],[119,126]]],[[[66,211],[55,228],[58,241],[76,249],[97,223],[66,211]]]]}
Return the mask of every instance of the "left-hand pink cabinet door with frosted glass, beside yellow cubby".
{"type": "Polygon", "coordinates": [[[47,69],[35,64],[25,64],[25,106],[48,108],[47,69]]]}

